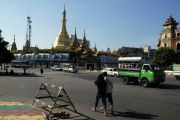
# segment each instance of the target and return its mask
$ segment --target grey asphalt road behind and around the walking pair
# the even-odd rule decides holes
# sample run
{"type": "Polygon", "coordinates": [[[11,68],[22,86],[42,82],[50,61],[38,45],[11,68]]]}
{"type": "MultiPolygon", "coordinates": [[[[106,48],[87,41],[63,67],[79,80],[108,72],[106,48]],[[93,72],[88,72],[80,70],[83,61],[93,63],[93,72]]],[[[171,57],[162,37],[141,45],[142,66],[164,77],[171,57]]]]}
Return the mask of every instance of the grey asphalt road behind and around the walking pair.
{"type": "MultiPolygon", "coordinates": [[[[123,85],[119,78],[114,81],[115,116],[105,117],[91,111],[96,94],[95,80],[98,72],[80,71],[78,74],[30,70],[32,76],[0,76],[0,100],[31,103],[42,82],[63,86],[78,112],[86,119],[97,120],[179,120],[180,81],[166,78],[159,88],[143,88],[139,85],[123,85]]],[[[19,70],[19,72],[22,72],[19,70]]],[[[77,118],[76,118],[77,119],[77,118]]]]}

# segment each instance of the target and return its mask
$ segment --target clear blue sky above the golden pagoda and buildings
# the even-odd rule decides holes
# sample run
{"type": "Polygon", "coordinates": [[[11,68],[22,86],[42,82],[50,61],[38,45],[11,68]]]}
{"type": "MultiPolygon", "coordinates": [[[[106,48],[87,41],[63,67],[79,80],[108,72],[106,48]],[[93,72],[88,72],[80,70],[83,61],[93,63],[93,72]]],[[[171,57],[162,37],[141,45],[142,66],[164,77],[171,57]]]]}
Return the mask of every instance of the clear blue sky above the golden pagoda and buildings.
{"type": "Polygon", "coordinates": [[[25,44],[26,18],[32,19],[32,46],[51,48],[61,29],[66,6],[69,36],[77,28],[91,47],[111,50],[128,47],[156,48],[162,24],[170,14],[180,22],[180,0],[0,0],[0,29],[18,49],[25,44]]]}

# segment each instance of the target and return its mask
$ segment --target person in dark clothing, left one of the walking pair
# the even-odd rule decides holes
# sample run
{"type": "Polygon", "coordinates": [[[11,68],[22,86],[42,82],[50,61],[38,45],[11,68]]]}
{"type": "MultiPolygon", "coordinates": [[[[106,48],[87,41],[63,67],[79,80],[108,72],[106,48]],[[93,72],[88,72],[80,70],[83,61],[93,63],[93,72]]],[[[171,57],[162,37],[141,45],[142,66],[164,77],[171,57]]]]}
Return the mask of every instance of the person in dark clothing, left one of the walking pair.
{"type": "Polygon", "coordinates": [[[98,106],[98,102],[101,99],[103,104],[103,113],[104,115],[107,115],[106,113],[106,80],[104,77],[107,76],[107,72],[103,72],[98,75],[95,85],[97,86],[97,94],[96,94],[96,101],[94,104],[94,107],[92,108],[93,111],[96,111],[96,108],[98,106]]]}

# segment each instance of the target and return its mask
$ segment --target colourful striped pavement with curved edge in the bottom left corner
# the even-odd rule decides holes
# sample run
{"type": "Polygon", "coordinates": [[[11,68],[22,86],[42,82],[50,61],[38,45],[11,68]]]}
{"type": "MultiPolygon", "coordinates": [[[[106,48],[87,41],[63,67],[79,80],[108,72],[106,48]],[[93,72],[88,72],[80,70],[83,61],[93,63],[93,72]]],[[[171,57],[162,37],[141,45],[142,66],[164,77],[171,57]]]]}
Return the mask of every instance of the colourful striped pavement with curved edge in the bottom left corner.
{"type": "Polygon", "coordinates": [[[31,105],[0,101],[0,120],[44,120],[44,117],[31,105]]]}

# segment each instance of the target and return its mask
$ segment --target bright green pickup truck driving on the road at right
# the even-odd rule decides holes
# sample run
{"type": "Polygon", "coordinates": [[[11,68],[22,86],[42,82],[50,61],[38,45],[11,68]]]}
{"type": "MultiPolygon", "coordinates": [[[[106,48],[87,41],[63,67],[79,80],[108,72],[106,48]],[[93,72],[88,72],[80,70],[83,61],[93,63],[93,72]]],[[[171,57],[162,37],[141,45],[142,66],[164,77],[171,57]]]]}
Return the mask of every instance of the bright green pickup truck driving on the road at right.
{"type": "Polygon", "coordinates": [[[119,77],[123,78],[124,84],[134,82],[136,84],[141,83],[143,87],[149,85],[159,85],[159,83],[165,81],[165,73],[157,65],[143,64],[141,69],[119,69],[119,77]]]}

